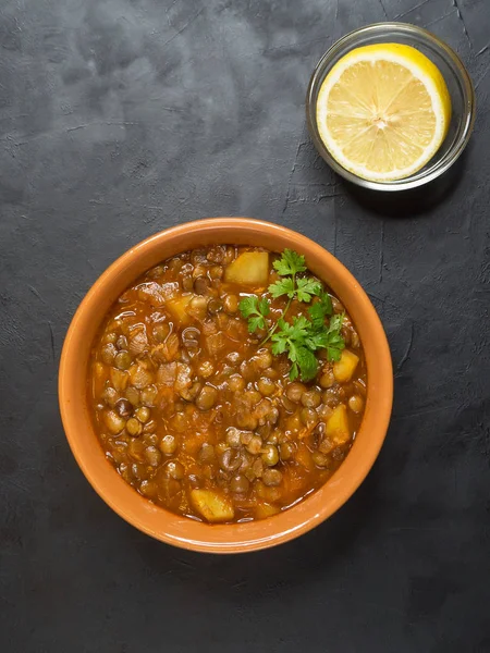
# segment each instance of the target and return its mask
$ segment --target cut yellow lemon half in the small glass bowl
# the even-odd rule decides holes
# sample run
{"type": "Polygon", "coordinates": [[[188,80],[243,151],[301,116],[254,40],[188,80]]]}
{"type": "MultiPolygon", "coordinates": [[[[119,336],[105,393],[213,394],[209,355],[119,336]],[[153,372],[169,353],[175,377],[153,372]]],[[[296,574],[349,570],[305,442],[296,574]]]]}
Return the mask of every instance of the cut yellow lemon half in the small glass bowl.
{"type": "Polygon", "coordinates": [[[439,69],[399,44],[356,48],[324,78],[317,125],[332,157],[365,180],[401,180],[424,168],[448,133],[451,99],[439,69]]]}

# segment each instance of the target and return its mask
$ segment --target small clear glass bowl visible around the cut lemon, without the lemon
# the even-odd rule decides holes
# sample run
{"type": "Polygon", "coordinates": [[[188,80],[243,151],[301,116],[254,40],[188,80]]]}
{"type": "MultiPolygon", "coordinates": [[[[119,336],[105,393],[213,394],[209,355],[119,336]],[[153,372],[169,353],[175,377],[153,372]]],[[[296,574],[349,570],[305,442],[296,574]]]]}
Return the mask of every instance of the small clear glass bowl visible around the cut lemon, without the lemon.
{"type": "Polygon", "coordinates": [[[379,23],[357,29],[340,39],[318,63],[307,94],[307,120],[311,137],[322,158],[342,176],[366,188],[401,190],[425,184],[448,170],[463,151],[475,118],[475,95],[469,75],[457,54],[436,36],[405,23],[379,23]],[[368,182],[342,168],[324,147],[316,122],[316,104],[323,79],[347,52],[372,44],[396,42],[417,48],[440,70],[451,96],[452,115],[448,134],[432,159],[418,172],[394,182],[368,182]]]}

